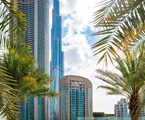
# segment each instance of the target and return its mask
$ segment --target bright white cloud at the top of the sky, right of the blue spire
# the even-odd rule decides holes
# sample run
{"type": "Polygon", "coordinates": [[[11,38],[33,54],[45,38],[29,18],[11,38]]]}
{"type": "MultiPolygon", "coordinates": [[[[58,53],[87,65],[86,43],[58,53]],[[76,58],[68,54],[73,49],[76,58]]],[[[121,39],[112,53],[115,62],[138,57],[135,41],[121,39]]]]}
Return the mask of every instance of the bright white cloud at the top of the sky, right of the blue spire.
{"type": "Polygon", "coordinates": [[[87,27],[92,27],[92,18],[96,0],[60,0],[62,16],[69,16],[63,26],[69,30],[82,32],[87,27]]]}

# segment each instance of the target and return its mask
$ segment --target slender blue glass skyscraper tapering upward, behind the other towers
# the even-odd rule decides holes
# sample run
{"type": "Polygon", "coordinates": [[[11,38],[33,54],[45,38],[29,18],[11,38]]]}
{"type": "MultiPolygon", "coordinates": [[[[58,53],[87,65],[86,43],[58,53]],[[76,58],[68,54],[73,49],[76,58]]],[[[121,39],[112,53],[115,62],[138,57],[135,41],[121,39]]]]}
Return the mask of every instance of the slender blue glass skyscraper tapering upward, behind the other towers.
{"type": "MultiPolygon", "coordinates": [[[[63,77],[63,52],[61,36],[61,16],[59,13],[59,1],[53,1],[52,30],[51,30],[51,62],[50,75],[54,82],[51,89],[59,92],[59,81],[63,77]]],[[[59,120],[59,99],[50,99],[50,120],[59,120]]]]}

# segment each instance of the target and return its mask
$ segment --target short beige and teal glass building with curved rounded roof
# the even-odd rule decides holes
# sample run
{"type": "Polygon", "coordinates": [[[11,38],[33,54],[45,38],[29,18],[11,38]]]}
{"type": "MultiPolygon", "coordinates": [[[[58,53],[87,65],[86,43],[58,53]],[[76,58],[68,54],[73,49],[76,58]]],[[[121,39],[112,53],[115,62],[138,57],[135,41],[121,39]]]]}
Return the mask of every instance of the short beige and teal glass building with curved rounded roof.
{"type": "Polygon", "coordinates": [[[60,120],[92,117],[92,83],[84,77],[67,75],[60,83],[60,120]]]}

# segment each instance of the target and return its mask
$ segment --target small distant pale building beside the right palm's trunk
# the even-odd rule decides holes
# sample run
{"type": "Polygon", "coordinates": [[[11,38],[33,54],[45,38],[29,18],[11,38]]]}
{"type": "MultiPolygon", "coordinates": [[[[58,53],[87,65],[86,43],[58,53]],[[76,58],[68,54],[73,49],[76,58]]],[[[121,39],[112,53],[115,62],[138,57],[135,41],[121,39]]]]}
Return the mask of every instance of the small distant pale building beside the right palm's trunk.
{"type": "Polygon", "coordinates": [[[114,106],[114,112],[117,120],[128,120],[129,111],[126,99],[121,99],[114,106]]]}

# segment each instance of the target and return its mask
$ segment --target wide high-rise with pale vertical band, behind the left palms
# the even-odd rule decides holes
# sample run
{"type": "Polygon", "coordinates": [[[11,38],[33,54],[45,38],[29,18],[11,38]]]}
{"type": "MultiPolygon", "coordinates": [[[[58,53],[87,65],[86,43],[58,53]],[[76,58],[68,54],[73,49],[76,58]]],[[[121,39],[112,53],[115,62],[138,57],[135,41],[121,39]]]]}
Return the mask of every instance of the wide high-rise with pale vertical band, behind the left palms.
{"type": "MultiPolygon", "coordinates": [[[[49,72],[49,0],[17,0],[26,17],[24,42],[32,48],[36,66],[49,72]]],[[[28,98],[20,103],[21,120],[45,120],[48,116],[44,98],[28,98]]]]}

